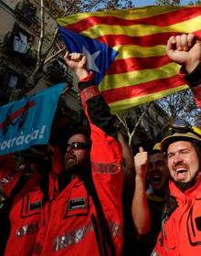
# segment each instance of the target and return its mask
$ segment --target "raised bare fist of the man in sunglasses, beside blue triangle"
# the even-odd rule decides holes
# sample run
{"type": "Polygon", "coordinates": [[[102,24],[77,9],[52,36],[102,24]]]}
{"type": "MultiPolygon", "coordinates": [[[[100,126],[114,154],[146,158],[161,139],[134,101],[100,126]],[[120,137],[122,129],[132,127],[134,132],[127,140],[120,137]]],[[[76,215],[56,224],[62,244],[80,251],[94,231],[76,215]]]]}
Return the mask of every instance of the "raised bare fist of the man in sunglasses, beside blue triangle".
{"type": "Polygon", "coordinates": [[[64,56],[64,60],[66,61],[69,68],[75,71],[79,80],[82,80],[89,75],[90,71],[87,69],[86,56],[83,56],[81,53],[69,53],[67,51],[64,56]]]}

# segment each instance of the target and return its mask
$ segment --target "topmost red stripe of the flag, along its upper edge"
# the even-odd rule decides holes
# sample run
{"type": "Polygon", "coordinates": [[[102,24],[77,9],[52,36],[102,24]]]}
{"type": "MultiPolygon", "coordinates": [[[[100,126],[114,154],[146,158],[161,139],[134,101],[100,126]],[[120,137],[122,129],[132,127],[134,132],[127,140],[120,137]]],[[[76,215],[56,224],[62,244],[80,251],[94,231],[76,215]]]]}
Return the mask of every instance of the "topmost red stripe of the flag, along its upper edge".
{"type": "MultiPolygon", "coordinates": [[[[81,31],[87,30],[90,27],[96,25],[109,25],[109,26],[132,26],[132,25],[153,25],[158,27],[167,27],[179,22],[183,22],[194,18],[196,16],[201,15],[200,7],[193,7],[193,8],[181,8],[175,10],[173,12],[168,12],[158,16],[151,16],[151,17],[144,17],[139,19],[127,20],[123,18],[119,18],[117,16],[89,16],[87,18],[83,18],[78,22],[67,26],[66,28],[73,30],[77,33],[81,31]],[[193,12],[192,12],[193,10],[193,12]]],[[[133,12],[134,16],[134,12],[133,12]]]]}

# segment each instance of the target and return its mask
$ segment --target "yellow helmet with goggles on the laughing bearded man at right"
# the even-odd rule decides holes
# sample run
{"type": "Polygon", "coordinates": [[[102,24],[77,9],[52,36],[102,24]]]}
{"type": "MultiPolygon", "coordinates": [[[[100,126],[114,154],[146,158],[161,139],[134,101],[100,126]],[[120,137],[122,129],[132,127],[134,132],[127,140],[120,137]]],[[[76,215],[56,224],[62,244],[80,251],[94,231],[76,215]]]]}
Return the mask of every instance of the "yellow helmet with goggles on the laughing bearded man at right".
{"type": "Polygon", "coordinates": [[[201,143],[201,130],[198,127],[192,127],[183,119],[176,119],[169,132],[171,134],[164,137],[161,142],[161,150],[164,154],[168,145],[175,141],[198,141],[201,143]]]}

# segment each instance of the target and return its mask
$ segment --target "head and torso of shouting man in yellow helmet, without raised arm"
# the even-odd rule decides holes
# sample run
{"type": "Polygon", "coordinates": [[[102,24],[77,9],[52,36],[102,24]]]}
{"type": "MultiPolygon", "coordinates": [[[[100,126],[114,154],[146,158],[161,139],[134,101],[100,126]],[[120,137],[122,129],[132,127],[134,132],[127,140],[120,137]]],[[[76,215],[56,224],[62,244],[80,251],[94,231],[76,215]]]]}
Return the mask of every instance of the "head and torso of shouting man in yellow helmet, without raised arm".
{"type": "Polygon", "coordinates": [[[152,255],[201,255],[201,130],[178,119],[161,148],[172,180],[152,255]]]}

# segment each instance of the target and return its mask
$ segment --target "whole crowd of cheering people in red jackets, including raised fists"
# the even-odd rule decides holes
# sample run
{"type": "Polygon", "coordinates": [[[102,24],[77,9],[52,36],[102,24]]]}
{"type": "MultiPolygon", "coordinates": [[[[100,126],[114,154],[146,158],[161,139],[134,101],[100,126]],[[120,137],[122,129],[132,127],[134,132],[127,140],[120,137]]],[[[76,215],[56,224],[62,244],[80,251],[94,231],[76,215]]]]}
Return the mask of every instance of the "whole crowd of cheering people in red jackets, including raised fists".
{"type": "MultiPolygon", "coordinates": [[[[166,52],[198,87],[196,36],[170,37],[166,52]]],[[[132,155],[87,57],[64,60],[89,125],[62,138],[65,152],[48,144],[1,156],[0,255],[201,255],[201,130],[176,119],[152,150],[132,155]]]]}

